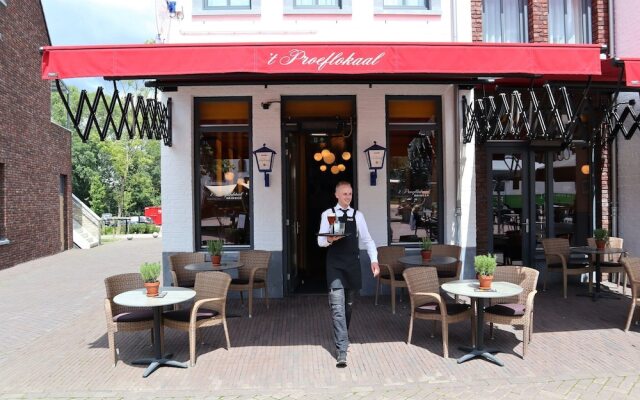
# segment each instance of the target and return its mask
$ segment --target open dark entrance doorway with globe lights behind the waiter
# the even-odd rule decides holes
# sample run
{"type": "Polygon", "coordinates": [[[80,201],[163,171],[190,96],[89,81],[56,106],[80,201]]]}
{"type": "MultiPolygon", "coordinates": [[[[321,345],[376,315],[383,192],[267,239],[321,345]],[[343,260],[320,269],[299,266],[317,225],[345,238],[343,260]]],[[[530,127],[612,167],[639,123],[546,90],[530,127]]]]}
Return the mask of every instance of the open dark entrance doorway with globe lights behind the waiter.
{"type": "Polygon", "coordinates": [[[326,249],[318,247],[316,233],[321,213],[336,204],[336,184],[355,186],[355,101],[296,97],[282,104],[287,292],[326,293],[326,249]]]}

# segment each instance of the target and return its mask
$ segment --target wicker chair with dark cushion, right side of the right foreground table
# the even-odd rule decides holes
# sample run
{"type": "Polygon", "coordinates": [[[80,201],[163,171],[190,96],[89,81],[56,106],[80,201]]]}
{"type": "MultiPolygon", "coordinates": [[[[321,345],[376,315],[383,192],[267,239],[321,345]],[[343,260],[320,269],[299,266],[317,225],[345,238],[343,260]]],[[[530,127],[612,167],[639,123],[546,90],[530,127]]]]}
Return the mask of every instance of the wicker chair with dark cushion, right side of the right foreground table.
{"type": "Polygon", "coordinates": [[[523,290],[517,296],[491,299],[490,306],[484,310],[492,339],[493,324],[522,326],[522,358],[533,335],[533,300],[538,293],[538,275],[537,270],[529,267],[506,265],[496,268],[493,274],[495,281],[515,283],[523,290]]]}

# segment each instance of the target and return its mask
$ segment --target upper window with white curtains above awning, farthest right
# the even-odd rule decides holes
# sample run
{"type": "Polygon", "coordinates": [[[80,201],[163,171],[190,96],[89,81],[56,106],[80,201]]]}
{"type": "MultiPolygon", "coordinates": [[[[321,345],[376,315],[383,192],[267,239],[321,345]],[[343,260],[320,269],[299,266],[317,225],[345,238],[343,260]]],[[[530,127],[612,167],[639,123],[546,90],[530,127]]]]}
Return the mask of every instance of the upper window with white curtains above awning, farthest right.
{"type": "Polygon", "coordinates": [[[549,0],[549,42],[591,43],[590,2],[549,0]]]}

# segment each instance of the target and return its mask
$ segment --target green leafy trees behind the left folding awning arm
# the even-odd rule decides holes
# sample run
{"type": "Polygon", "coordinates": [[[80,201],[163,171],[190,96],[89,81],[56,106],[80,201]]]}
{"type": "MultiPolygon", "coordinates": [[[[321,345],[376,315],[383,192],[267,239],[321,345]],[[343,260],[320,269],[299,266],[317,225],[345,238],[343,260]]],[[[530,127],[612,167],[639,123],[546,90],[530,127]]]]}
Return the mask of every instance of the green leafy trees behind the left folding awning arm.
{"type": "MultiPolygon", "coordinates": [[[[146,96],[148,88],[137,81],[123,81],[120,96],[126,93],[146,96]]],[[[89,93],[93,101],[95,93],[89,93]]],[[[106,94],[107,103],[111,95],[106,94]]],[[[69,106],[76,110],[80,90],[69,86],[69,106]]],[[[115,121],[120,120],[120,111],[114,112],[115,121]]],[[[106,112],[98,107],[98,123],[105,121],[106,112]]],[[[88,114],[83,115],[81,130],[87,122],[88,114]]],[[[51,94],[51,119],[54,123],[70,129],[72,185],[73,193],[86,202],[97,214],[111,212],[119,217],[142,215],[144,208],[160,204],[160,146],[157,140],[129,139],[123,133],[121,140],[115,140],[114,132],[109,128],[107,139],[102,142],[95,127],[92,126],[89,139],[83,143],[71,121],[57,91],[51,94]]],[[[133,121],[129,119],[129,124],[133,121]]]]}

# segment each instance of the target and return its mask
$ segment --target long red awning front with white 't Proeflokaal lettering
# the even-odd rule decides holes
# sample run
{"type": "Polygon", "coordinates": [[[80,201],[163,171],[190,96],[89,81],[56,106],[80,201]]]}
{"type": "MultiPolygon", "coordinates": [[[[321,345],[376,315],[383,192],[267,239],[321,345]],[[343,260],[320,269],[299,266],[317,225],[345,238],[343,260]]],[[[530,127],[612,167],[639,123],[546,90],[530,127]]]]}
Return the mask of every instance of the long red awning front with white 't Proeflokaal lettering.
{"type": "Polygon", "coordinates": [[[44,47],[42,78],[226,73],[600,75],[599,45],[251,43],[44,47]]]}

